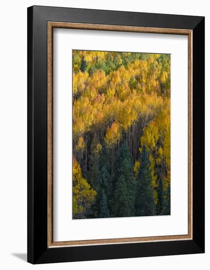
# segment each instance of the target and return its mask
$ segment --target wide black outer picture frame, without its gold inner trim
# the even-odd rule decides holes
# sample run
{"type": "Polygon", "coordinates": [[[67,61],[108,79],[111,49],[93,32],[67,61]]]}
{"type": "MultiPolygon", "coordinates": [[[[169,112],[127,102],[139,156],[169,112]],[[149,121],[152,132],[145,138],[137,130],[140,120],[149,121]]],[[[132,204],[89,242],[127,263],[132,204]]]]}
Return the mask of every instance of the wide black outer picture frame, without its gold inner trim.
{"type": "Polygon", "coordinates": [[[27,261],[32,264],[205,252],[205,18],[93,9],[27,9],[27,261]],[[47,23],[191,29],[193,45],[192,240],[48,248],[47,23]]]}

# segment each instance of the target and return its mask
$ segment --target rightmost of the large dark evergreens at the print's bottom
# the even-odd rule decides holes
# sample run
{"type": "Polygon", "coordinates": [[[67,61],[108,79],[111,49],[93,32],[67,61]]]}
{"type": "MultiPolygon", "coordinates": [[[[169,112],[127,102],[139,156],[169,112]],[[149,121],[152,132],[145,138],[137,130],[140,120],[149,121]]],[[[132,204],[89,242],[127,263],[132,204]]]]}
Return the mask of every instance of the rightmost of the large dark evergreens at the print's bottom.
{"type": "Polygon", "coordinates": [[[137,175],[134,216],[154,216],[154,215],[155,215],[155,197],[154,197],[154,189],[152,186],[150,160],[146,146],[143,145],[137,175]]]}

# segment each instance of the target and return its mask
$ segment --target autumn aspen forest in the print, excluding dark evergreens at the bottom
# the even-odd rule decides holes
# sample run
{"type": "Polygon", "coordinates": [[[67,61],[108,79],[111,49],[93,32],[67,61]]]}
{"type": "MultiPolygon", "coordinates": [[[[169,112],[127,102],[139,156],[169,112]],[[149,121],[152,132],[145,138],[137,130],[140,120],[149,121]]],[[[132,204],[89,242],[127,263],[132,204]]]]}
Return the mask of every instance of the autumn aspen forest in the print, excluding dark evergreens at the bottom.
{"type": "MultiPolygon", "coordinates": [[[[90,185],[95,169],[91,160],[97,165],[105,143],[113,166],[123,141],[131,152],[135,178],[137,157],[145,145],[153,187],[161,177],[166,189],[170,184],[170,57],[73,51],[73,213],[79,218],[85,217],[96,195],[90,185]]],[[[157,200],[157,191],[155,195],[157,200]]]]}

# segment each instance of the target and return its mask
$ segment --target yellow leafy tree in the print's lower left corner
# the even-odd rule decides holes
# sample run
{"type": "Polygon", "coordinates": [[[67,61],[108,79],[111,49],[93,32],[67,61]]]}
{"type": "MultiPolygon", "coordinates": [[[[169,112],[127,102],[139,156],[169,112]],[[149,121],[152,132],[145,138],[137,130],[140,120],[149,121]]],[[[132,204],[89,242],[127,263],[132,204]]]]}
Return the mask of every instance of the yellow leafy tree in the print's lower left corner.
{"type": "Polygon", "coordinates": [[[83,218],[94,203],[96,191],[82,177],[79,163],[73,159],[73,215],[83,218]]]}

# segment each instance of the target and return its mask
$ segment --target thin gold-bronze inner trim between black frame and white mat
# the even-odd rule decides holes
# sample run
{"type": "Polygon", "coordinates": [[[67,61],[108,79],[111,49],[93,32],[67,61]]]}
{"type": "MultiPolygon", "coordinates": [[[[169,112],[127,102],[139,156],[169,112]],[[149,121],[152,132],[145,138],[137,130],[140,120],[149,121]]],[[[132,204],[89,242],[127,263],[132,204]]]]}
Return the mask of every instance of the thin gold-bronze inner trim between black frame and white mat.
{"type": "Polygon", "coordinates": [[[192,239],[192,30],[99,24],[48,22],[48,248],[78,245],[139,243],[192,239]],[[53,28],[72,28],[188,36],[188,234],[53,242],[53,28]]]}

